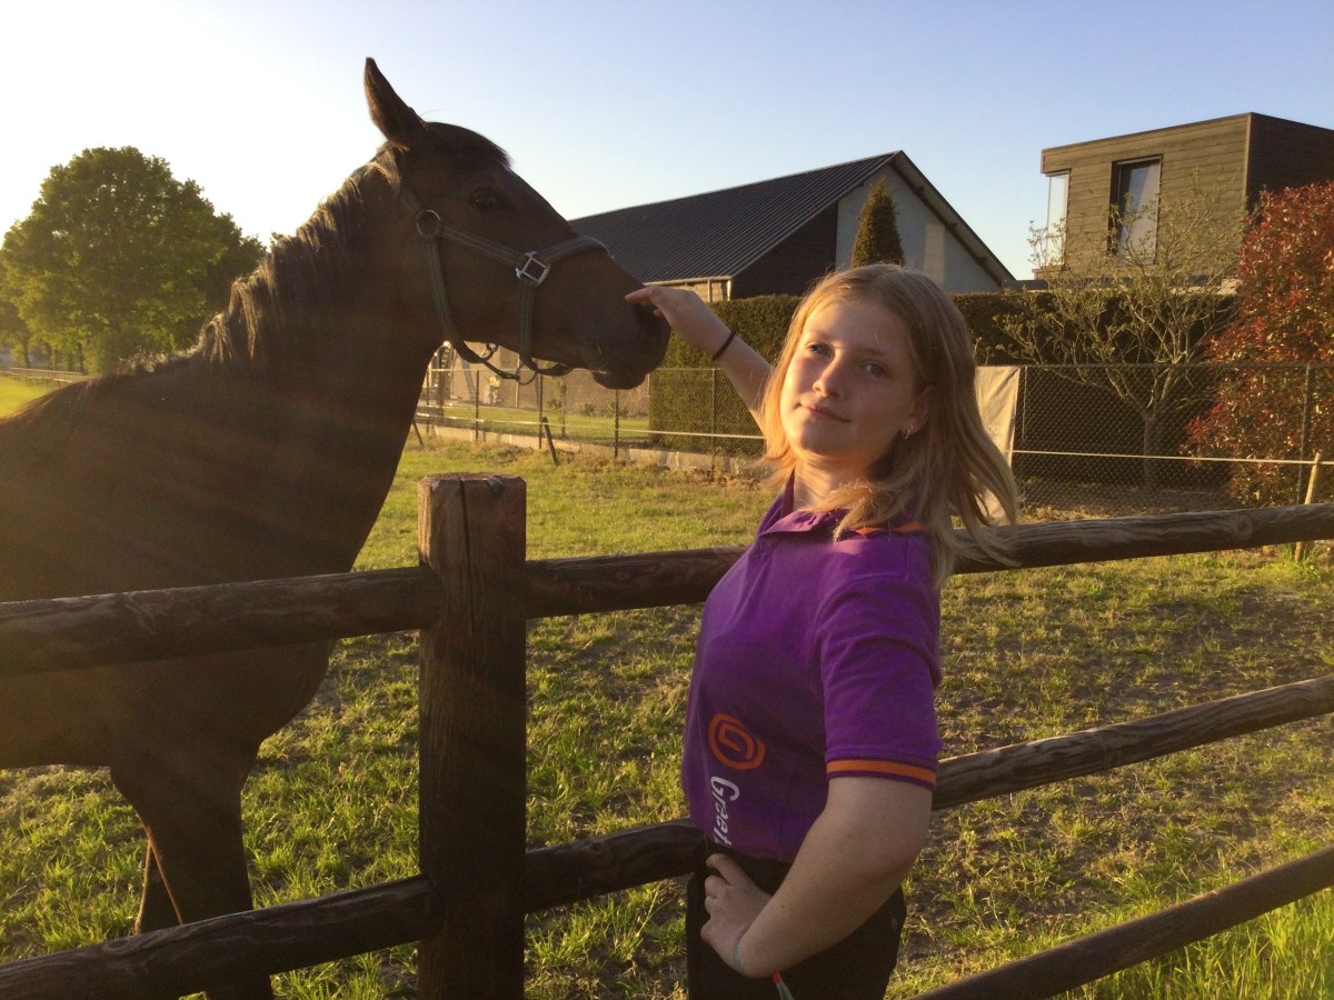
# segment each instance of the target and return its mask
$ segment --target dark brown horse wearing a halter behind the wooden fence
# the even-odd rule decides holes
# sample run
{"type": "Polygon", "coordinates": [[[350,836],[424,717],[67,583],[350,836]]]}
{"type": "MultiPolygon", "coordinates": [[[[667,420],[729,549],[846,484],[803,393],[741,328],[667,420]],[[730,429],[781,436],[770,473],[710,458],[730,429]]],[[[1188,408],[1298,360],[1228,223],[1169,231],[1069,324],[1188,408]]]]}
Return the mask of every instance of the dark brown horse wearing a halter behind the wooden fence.
{"type": "MultiPolygon", "coordinates": [[[[423,121],[371,60],[366,92],[388,141],[193,351],[0,421],[0,600],[348,571],[447,332],[618,388],[662,360],[666,327],[624,301],[639,283],[498,147],[423,121]]],[[[248,909],[241,784],[328,652],[0,679],[0,767],[111,769],[148,833],[137,929],[248,909]]]]}

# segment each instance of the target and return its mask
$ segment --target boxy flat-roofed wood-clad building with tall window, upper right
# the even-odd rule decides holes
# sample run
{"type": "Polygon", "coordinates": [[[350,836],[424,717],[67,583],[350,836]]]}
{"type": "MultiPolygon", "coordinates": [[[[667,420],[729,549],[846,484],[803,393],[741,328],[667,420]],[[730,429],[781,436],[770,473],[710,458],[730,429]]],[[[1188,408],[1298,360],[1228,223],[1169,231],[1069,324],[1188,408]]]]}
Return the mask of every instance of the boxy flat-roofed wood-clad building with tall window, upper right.
{"type": "Polygon", "coordinates": [[[1051,147],[1042,151],[1042,172],[1050,181],[1047,231],[1063,227],[1058,249],[1075,261],[1114,248],[1107,212],[1127,200],[1146,207],[1195,188],[1222,209],[1249,211],[1261,191],[1334,179],[1334,129],[1249,112],[1051,147]]]}

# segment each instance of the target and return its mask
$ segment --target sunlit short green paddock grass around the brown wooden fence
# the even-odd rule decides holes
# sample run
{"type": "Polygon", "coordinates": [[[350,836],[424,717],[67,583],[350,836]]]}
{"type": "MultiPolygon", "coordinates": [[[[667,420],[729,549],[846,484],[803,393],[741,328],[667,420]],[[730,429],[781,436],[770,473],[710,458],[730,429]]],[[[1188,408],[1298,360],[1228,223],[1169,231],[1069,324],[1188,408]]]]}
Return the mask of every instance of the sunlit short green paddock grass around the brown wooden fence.
{"type": "MultiPolygon", "coordinates": [[[[4,380],[0,380],[3,385],[4,380]]],[[[528,483],[534,559],[739,544],[746,479],[415,440],[359,565],[415,563],[415,483],[528,483]]],[[[1053,736],[1334,668],[1334,568],[1243,552],[959,577],[944,592],[946,753],[1053,736]]],[[[531,845],[675,819],[698,608],[530,628],[531,845]]],[[[340,644],[245,789],[259,904],[404,877],[415,863],[415,644],[340,644]]],[[[1329,720],[938,813],[910,879],[890,996],[1187,899],[1334,840],[1329,720]]],[[[129,932],[133,816],[99,772],[0,772],[0,960],[129,932]]],[[[684,997],[676,883],[536,913],[527,995],[684,997]]],[[[411,948],[283,976],[284,997],[410,997],[411,948]]],[[[1334,995],[1329,893],[1081,997],[1334,995]]]]}

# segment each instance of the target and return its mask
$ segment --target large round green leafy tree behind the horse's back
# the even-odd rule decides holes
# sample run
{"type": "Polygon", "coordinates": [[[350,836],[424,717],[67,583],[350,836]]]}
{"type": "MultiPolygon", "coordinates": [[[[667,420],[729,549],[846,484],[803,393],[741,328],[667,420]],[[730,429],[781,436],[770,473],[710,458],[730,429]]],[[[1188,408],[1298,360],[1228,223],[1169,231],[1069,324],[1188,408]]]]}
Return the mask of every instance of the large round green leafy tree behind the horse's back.
{"type": "Polygon", "coordinates": [[[5,233],[5,295],[32,333],[108,371],[193,341],[231,280],[263,256],[192,180],[132,147],[52,168],[5,233]]]}

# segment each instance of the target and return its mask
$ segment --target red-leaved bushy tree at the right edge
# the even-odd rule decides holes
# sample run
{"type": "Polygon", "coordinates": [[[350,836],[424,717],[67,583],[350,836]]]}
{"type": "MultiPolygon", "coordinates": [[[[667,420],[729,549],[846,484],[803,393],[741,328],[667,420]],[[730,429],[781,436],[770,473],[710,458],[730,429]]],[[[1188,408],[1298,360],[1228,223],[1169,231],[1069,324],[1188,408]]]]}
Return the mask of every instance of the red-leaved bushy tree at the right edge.
{"type": "MultiPolygon", "coordinates": [[[[1293,457],[1334,451],[1334,181],[1261,195],[1237,264],[1237,319],[1209,349],[1230,369],[1190,425],[1199,455],[1293,457]],[[1301,367],[1257,367],[1257,365],[1301,367]]],[[[1299,496],[1302,467],[1298,467],[1299,496]]],[[[1291,471],[1241,464],[1247,503],[1291,503],[1291,471]]]]}

